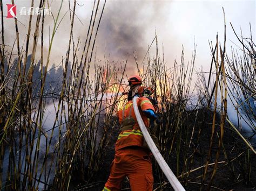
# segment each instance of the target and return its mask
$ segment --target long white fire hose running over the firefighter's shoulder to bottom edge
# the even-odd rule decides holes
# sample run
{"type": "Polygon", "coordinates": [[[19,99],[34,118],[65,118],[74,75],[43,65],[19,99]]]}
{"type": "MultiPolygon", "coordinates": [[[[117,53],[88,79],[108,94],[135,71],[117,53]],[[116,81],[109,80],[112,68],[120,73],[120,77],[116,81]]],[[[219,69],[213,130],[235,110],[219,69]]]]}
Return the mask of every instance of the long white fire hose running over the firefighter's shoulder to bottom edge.
{"type": "Polygon", "coordinates": [[[142,130],[143,136],[147,142],[147,145],[149,145],[151,152],[154,155],[154,158],[156,158],[158,165],[160,166],[161,170],[164,172],[166,178],[171,183],[174,190],[185,190],[184,187],[181,185],[179,180],[176,178],[176,176],[171,171],[170,167],[167,165],[166,161],[164,160],[163,156],[159,152],[157,146],[154,144],[149,132],[146,129],[146,126],[142,120],[142,116],[140,116],[137,100],[139,97],[134,96],[133,97],[133,109],[140,127],[140,130],[142,130]]]}

